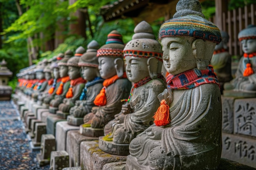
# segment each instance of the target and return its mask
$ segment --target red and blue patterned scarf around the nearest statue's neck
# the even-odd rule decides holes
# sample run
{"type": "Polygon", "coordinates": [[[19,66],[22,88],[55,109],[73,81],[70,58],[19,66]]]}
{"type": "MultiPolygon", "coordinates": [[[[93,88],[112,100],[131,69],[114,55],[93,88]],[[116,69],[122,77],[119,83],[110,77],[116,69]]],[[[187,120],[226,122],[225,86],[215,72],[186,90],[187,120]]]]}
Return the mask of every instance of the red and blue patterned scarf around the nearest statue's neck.
{"type": "Polygon", "coordinates": [[[167,86],[171,89],[190,89],[202,84],[218,84],[218,79],[213,72],[211,66],[207,66],[206,70],[198,70],[194,68],[178,75],[168,75],[166,77],[167,86]]]}

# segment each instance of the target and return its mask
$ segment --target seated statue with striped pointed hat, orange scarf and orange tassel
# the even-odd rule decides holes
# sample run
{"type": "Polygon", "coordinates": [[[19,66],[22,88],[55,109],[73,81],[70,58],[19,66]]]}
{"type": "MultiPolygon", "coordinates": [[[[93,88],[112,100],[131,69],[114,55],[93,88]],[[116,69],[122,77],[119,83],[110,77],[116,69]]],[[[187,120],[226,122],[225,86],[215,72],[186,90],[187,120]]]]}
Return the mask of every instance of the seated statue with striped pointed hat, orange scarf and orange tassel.
{"type": "Polygon", "coordinates": [[[131,83],[124,72],[124,43],[118,31],[111,31],[105,45],[97,51],[99,73],[104,80],[103,88],[94,100],[98,107],[85,115],[84,123],[92,128],[103,128],[114,115],[121,111],[121,99],[129,96],[131,83]]]}

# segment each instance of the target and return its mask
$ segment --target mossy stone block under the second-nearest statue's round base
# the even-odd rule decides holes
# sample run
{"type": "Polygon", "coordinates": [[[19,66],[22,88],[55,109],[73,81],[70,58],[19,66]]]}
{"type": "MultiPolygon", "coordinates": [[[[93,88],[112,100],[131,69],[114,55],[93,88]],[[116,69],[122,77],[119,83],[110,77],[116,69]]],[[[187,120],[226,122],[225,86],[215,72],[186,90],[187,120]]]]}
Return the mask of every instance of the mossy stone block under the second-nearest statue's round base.
{"type": "Polygon", "coordinates": [[[102,170],[106,163],[126,161],[126,156],[103,152],[98,141],[81,142],[80,152],[82,170],[102,170]]]}

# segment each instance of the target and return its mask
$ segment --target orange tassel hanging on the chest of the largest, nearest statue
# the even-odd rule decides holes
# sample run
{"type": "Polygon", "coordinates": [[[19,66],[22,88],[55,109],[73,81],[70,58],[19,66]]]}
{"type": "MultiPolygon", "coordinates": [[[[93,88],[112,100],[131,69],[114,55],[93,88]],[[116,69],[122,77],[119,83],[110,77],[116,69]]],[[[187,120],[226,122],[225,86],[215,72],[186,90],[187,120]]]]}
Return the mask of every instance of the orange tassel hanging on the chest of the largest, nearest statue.
{"type": "Polygon", "coordinates": [[[154,123],[156,126],[165,126],[171,122],[169,117],[170,111],[169,106],[166,104],[166,101],[162,99],[159,108],[157,109],[155,115],[153,116],[154,123]]]}

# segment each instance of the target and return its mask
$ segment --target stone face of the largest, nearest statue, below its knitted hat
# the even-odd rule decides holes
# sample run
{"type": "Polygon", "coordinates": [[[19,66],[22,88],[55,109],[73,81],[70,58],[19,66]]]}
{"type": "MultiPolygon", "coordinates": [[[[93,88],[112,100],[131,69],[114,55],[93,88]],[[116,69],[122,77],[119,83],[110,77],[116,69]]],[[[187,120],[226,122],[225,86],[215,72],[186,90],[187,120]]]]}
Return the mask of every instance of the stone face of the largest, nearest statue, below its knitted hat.
{"type": "Polygon", "coordinates": [[[161,40],[163,46],[163,64],[168,73],[177,75],[196,68],[193,55],[193,37],[166,37],[161,40]]]}

